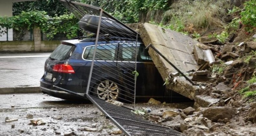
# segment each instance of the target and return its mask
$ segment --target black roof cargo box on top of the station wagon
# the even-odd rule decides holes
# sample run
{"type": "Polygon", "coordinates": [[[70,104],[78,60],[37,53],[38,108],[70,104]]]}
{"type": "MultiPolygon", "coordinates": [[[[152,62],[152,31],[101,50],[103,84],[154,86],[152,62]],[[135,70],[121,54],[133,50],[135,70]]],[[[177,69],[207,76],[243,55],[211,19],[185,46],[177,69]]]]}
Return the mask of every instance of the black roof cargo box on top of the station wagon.
{"type": "MultiPolygon", "coordinates": [[[[78,22],[79,27],[84,31],[89,33],[97,33],[99,23],[99,16],[85,15],[78,22]]],[[[112,36],[126,37],[126,38],[136,38],[136,33],[125,28],[120,23],[113,19],[102,17],[100,34],[110,34],[112,36]]]]}

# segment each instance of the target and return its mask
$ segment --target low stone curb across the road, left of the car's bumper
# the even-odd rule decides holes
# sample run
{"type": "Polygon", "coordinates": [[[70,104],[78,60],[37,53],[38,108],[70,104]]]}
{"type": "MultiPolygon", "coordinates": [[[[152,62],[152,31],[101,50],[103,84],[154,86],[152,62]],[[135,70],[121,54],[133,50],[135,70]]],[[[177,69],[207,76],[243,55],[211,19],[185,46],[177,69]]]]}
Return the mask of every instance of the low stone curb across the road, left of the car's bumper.
{"type": "Polygon", "coordinates": [[[0,94],[13,94],[13,93],[40,93],[41,90],[38,87],[10,87],[0,88],[0,94]]]}

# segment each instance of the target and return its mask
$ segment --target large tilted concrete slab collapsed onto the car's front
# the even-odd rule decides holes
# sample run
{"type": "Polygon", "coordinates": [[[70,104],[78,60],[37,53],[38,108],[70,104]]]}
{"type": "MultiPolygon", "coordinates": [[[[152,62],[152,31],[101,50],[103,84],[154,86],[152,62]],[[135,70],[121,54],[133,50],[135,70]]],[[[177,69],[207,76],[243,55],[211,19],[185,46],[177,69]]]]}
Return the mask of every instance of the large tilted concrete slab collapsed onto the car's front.
{"type": "MultiPolygon", "coordinates": [[[[189,36],[148,23],[140,25],[133,24],[132,28],[139,29],[140,37],[145,46],[152,44],[152,46],[173,63],[182,73],[196,71],[200,68],[199,64],[203,64],[204,62],[212,63],[214,61],[211,55],[212,52],[199,48],[200,46],[198,45],[200,45],[200,43],[189,36]]],[[[175,68],[164,60],[155,50],[149,48],[148,52],[163,80],[165,80],[170,73],[177,72],[175,68]]],[[[191,78],[192,77],[189,77],[189,79],[191,78]]],[[[196,96],[200,95],[200,87],[192,85],[184,77],[175,77],[175,83],[173,82],[166,86],[168,89],[195,101],[198,100],[196,96]]],[[[202,102],[202,99],[198,102],[196,101],[196,104],[203,105],[204,107],[208,106],[208,103],[205,104],[202,102]]]]}

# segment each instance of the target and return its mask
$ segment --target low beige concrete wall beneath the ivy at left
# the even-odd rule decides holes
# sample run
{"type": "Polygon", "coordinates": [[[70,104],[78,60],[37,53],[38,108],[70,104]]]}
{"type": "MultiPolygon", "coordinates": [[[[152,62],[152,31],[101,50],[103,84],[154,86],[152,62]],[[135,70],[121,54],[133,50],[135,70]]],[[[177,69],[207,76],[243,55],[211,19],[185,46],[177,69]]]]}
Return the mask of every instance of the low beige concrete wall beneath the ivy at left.
{"type": "Polygon", "coordinates": [[[60,44],[60,41],[41,41],[40,43],[35,44],[35,41],[0,41],[0,52],[53,51],[60,44]]]}

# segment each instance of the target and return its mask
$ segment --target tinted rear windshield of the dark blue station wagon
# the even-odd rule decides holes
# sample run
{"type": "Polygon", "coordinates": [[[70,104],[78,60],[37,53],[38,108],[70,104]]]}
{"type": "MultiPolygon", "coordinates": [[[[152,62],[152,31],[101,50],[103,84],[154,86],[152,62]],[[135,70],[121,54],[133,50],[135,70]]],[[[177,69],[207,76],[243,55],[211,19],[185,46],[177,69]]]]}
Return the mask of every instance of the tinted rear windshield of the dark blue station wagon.
{"type": "Polygon", "coordinates": [[[64,61],[67,60],[73,53],[76,46],[60,44],[50,55],[51,60],[64,61]]]}

